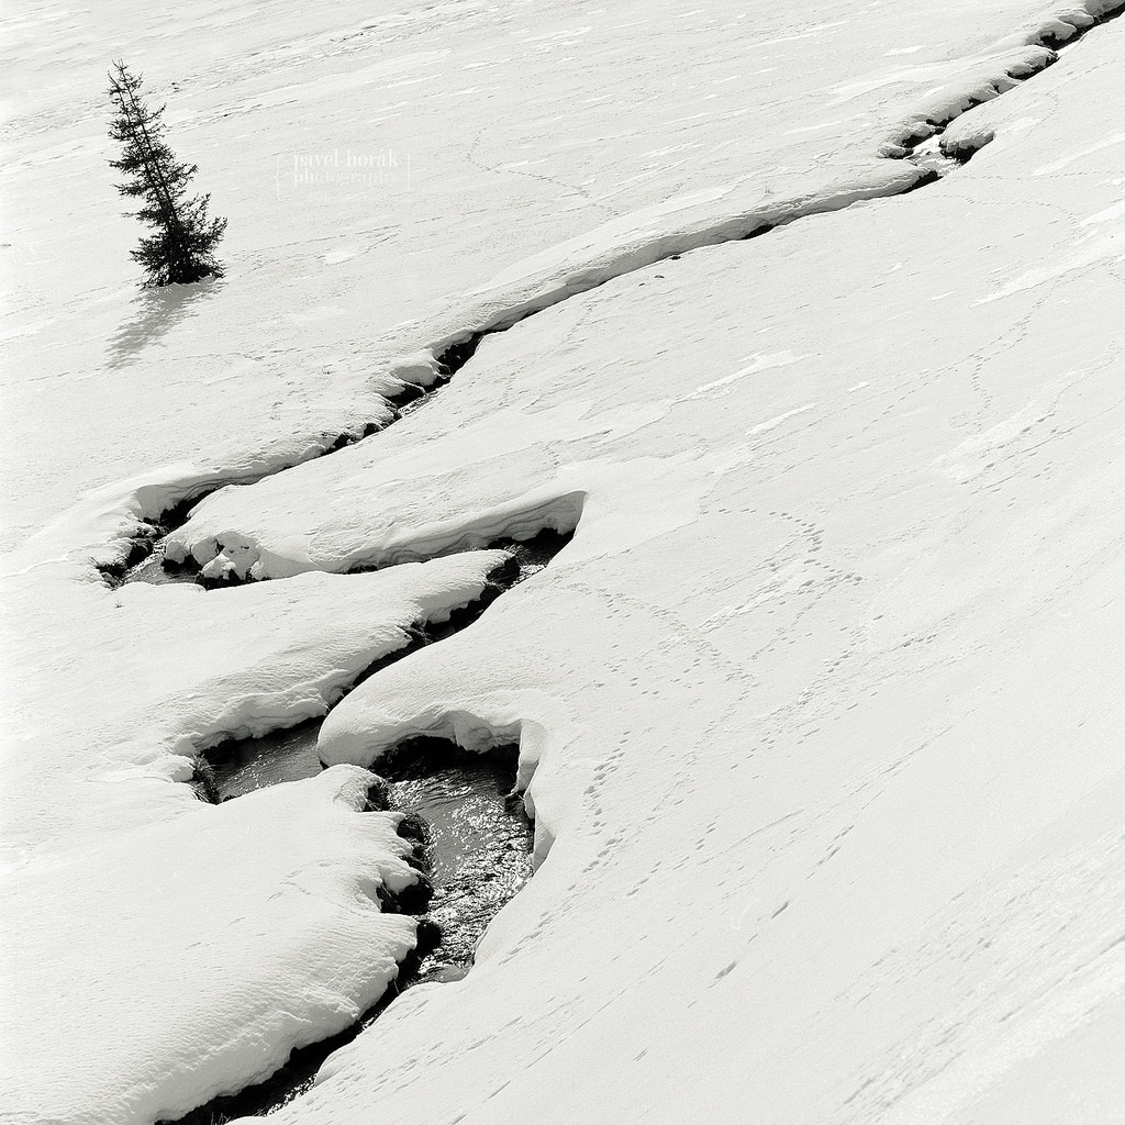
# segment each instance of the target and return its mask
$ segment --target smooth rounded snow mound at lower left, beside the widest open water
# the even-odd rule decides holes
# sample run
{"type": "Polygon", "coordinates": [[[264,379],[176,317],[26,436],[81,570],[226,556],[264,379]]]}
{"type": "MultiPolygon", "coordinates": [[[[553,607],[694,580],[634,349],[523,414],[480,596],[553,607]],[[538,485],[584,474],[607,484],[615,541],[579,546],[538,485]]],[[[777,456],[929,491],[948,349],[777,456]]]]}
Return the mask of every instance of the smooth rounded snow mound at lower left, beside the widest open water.
{"type": "Polygon", "coordinates": [[[179,1117],[352,1024],[414,946],[414,919],[376,899],[415,876],[400,813],[357,814],[369,784],[339,767],[196,802],[25,871],[4,896],[8,966],[29,992],[8,1015],[34,1012],[6,1036],[10,1119],[179,1117]]]}

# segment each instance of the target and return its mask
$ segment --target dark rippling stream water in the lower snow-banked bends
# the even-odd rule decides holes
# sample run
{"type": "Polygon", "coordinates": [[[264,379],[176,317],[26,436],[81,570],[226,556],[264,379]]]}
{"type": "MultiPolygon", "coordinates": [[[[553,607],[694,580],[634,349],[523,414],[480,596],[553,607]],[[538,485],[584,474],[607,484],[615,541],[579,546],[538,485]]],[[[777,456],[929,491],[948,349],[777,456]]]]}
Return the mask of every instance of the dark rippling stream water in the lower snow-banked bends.
{"type": "MultiPolygon", "coordinates": [[[[543,530],[532,539],[501,539],[489,547],[504,548],[510,558],[489,576],[482,596],[454,611],[447,621],[418,623],[412,640],[379,658],[357,683],[408,652],[440,642],[480,616],[503,593],[538,574],[570,541],[573,532],[543,530]]],[[[133,567],[125,582],[192,580],[189,568],[163,561],[162,544],[133,567]]],[[[263,738],[228,741],[208,749],[200,772],[207,782],[195,783],[200,795],[234,800],[267,785],[315,776],[323,768],[316,753],[322,719],[314,719],[263,738]]],[[[382,999],[357,1024],[328,1040],[294,1051],[289,1061],[267,1081],[235,1095],[215,1098],[180,1118],[180,1125],[212,1125],[235,1117],[268,1114],[306,1090],[324,1060],[353,1040],[404,989],[420,981],[454,981],[472,963],[485,928],[531,876],[533,829],[520,799],[511,800],[519,750],[498,747],[469,754],[452,742],[433,738],[404,741],[376,763],[384,780],[386,806],[407,814],[399,835],[416,839],[414,863],[433,886],[428,903],[415,894],[388,900],[384,909],[418,914],[417,955],[399,966],[398,979],[382,999]]],[[[378,789],[378,785],[375,786],[378,789]]],[[[377,803],[381,808],[381,801],[377,803]]]]}

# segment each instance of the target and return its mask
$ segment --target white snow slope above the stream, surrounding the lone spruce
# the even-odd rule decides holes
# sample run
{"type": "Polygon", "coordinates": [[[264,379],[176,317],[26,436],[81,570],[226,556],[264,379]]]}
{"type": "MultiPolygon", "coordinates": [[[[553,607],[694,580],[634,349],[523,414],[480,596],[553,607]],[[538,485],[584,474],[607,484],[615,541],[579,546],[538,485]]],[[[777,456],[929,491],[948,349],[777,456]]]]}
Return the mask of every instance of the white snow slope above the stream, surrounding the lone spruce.
{"type": "Polygon", "coordinates": [[[384,416],[396,361],[465,327],[490,278],[606,222],[631,228],[642,207],[730,217],[870,165],[921,92],[1010,51],[994,45],[1034,11],[350,0],[280,19],[254,0],[116,0],[94,19],[16,0],[0,43],[4,476],[35,487],[4,489],[3,546],[137,465],[241,478],[310,456],[384,416]],[[906,64],[884,57],[903,34],[926,44],[906,64]],[[177,151],[231,219],[220,286],[132,284],[136,224],[107,165],[119,55],[168,100],[177,151]],[[397,166],[379,179],[349,154],[397,166]],[[305,182],[330,156],[340,178],[305,182]]]}

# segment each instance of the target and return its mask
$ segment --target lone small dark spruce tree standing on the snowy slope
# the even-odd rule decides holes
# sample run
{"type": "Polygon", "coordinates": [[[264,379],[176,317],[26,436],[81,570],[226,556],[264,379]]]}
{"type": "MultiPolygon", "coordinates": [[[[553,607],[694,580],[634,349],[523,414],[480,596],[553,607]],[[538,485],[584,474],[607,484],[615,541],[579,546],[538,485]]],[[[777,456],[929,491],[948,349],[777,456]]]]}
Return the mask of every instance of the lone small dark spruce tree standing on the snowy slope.
{"type": "Polygon", "coordinates": [[[114,63],[109,73],[115,114],[109,135],[123,145],[120,160],[111,160],[109,165],[125,173],[117,190],[143,200],[136,217],[156,228],[129,253],[145,269],[146,289],[220,278],[223,267],[215,259],[215,246],[226,230],[226,219],[208,216],[209,195],[188,197],[197,165],[172,155],[161,120],[164,106],[150,109],[145,105],[142,81],[143,75],[130,73],[124,62],[114,63]]]}

